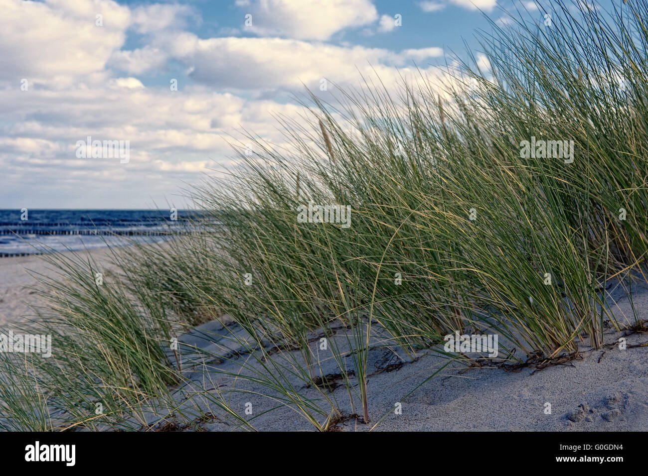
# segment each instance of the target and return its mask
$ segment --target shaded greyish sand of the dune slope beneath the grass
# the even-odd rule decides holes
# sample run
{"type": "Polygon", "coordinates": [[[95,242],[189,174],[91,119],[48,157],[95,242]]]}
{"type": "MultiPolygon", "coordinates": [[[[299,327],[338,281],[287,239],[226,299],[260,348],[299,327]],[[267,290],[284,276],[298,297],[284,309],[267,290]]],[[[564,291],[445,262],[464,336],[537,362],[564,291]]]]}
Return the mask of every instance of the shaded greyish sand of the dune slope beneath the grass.
{"type": "MultiPolygon", "coordinates": [[[[618,312],[630,312],[627,297],[612,292],[618,302],[618,312]]],[[[634,295],[635,305],[645,309],[648,292],[645,288],[634,295]]],[[[230,332],[240,333],[235,326],[230,332]]],[[[379,333],[378,333],[379,334],[379,333]]],[[[312,349],[321,359],[318,374],[334,375],[340,370],[333,359],[318,352],[317,332],[313,334],[312,349]]],[[[529,365],[516,370],[503,370],[496,366],[482,365],[466,368],[452,363],[439,374],[422,381],[442,368],[447,360],[431,352],[421,352],[408,357],[398,348],[373,348],[369,351],[368,394],[371,398],[369,425],[360,424],[349,417],[338,424],[343,431],[646,431],[648,430],[648,335],[630,331],[605,334],[606,344],[602,350],[586,345],[579,349],[575,359],[557,361],[555,365],[529,365]],[[621,350],[619,338],[626,339],[621,350]],[[417,388],[419,387],[419,388],[417,388]],[[410,394],[411,392],[411,394],[410,394]],[[404,396],[410,394],[407,398],[404,396]],[[402,413],[395,413],[395,405],[401,404],[402,413]],[[384,419],[374,424],[383,416],[384,419]]],[[[338,345],[344,346],[343,334],[337,337],[338,345]]],[[[374,337],[374,342],[380,341],[374,337]]],[[[238,372],[239,365],[231,356],[232,339],[219,323],[203,324],[180,338],[180,341],[204,348],[214,354],[225,356],[223,362],[207,363],[188,373],[195,381],[204,382],[212,372],[238,372]],[[218,337],[205,338],[205,333],[218,337]]],[[[236,347],[236,346],[234,346],[236,347]]],[[[242,349],[239,349],[242,350],[242,349]]],[[[275,357],[284,359],[283,357],[275,357]]],[[[294,358],[299,357],[294,354],[294,358]]],[[[248,362],[249,363],[249,362],[248,362]]],[[[253,367],[255,364],[251,364],[253,367]]],[[[353,367],[347,368],[353,370],[353,367]]],[[[296,384],[296,382],[295,382],[296,384]]],[[[250,385],[244,380],[219,377],[213,381],[215,388],[229,390],[267,392],[261,385],[250,385]]],[[[357,387],[357,381],[355,381],[357,387]]],[[[191,393],[191,385],[178,394],[191,393]]],[[[318,397],[312,389],[301,389],[305,396],[318,397]]],[[[254,394],[235,396],[233,399],[251,403],[255,413],[266,411],[274,402],[257,398],[254,394]]],[[[238,394],[235,394],[238,395],[238,394]]],[[[353,415],[347,389],[340,385],[333,395],[337,402],[347,402],[340,407],[343,414],[353,415]],[[345,398],[346,397],[346,398],[345,398]]],[[[187,403],[189,405],[189,403],[187,403]]],[[[191,406],[191,405],[190,405],[191,406]]],[[[238,405],[234,405],[235,408],[238,405]]],[[[203,411],[217,409],[205,403],[203,411]]],[[[355,411],[358,411],[356,408],[355,411]]],[[[150,422],[154,424],[155,418],[150,422]]],[[[157,425],[168,424],[168,420],[157,425]]],[[[312,429],[305,418],[292,409],[276,410],[262,414],[251,421],[256,429],[266,431],[294,431],[312,429]]],[[[179,425],[181,427],[181,425],[179,425]]],[[[154,425],[154,427],[156,427],[154,425]]],[[[223,422],[198,425],[207,431],[232,429],[223,422]]],[[[191,429],[198,429],[192,427],[191,429]]]]}

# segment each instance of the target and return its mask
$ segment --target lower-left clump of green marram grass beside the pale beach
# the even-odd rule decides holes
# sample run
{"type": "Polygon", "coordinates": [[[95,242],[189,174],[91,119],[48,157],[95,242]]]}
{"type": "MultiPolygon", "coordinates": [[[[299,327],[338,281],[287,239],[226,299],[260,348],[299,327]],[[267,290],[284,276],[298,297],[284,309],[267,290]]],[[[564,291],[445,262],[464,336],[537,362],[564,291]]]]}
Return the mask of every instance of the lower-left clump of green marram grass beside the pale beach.
{"type": "Polygon", "coordinates": [[[77,253],[43,259],[58,276],[37,276],[39,319],[22,331],[50,334],[52,355],[0,354],[0,427],[135,430],[151,414],[191,421],[191,409],[179,414],[172,396],[185,382],[177,353],[165,350],[174,335],[172,315],[150,289],[132,286],[123,257],[113,256],[122,275],[104,275],[106,263],[77,253]]]}

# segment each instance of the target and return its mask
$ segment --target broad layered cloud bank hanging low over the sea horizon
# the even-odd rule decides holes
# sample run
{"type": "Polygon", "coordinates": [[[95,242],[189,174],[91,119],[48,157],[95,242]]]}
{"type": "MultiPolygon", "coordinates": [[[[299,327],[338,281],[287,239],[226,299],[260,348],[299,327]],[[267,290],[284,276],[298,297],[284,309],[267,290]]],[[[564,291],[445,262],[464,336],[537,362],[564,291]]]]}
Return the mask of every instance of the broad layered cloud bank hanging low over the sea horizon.
{"type": "Polygon", "coordinates": [[[272,113],[296,117],[301,110],[200,87],[150,90],[135,78],[92,86],[55,96],[0,89],[0,200],[5,206],[24,200],[25,187],[34,188],[29,197],[35,203],[54,207],[150,206],[150,197],[177,194],[183,182],[193,183],[201,172],[227,162],[224,157],[232,153],[228,134],[237,135],[236,128],[283,144],[272,113]],[[130,141],[130,163],[78,159],[76,141],[88,135],[130,141]]]}

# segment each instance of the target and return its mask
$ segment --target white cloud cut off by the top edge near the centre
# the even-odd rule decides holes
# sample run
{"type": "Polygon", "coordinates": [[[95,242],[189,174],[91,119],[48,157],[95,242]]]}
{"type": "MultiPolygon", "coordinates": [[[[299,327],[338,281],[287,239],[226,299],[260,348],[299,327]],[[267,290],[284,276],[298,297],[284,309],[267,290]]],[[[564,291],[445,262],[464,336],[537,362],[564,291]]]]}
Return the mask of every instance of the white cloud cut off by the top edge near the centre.
{"type": "Polygon", "coordinates": [[[252,15],[251,27],[244,30],[298,40],[328,40],[345,28],[378,19],[376,7],[369,0],[255,0],[237,1],[236,5],[252,15]]]}

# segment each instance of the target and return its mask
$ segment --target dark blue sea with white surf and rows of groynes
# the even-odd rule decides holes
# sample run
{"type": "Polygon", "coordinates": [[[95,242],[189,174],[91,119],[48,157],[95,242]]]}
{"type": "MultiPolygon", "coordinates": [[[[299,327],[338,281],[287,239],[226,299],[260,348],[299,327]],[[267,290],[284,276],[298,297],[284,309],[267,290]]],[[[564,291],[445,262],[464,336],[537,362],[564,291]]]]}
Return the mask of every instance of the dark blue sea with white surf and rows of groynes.
{"type": "Polygon", "coordinates": [[[191,232],[196,218],[190,210],[177,220],[169,210],[0,210],[0,257],[161,242],[191,232]]]}

